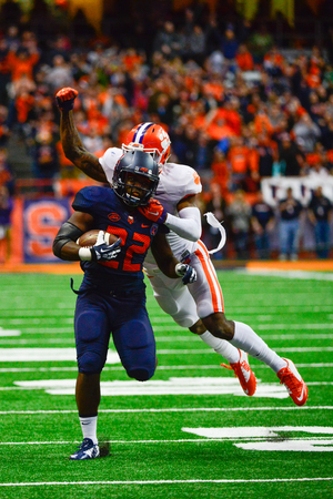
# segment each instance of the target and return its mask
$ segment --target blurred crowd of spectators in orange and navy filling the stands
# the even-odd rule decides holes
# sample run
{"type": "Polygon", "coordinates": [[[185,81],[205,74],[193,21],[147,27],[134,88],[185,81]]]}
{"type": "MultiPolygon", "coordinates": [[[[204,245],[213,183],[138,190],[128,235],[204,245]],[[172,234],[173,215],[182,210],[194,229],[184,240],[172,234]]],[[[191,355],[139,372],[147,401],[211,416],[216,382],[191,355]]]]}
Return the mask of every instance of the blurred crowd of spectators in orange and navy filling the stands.
{"type": "MultiPolygon", "coordinates": [[[[242,259],[269,258],[272,233],[279,232],[278,256],[296,259],[304,213],[316,255],[330,255],[332,205],[323,193],[315,191],[310,205],[302,206],[289,192],[273,208],[262,198],[261,181],[333,174],[333,34],[324,48],[286,51],[264,24],[253,30],[242,19],[225,23],[188,8],[176,23],[160,18],[149,42],[137,31],[127,45],[97,35],[82,11],[70,20],[65,2],[56,3],[53,12],[42,0],[36,4],[36,16],[24,23],[14,22],[22,16],[12,12],[19,9],[12,0],[0,12],[4,197],[12,196],[18,176],[7,161],[12,134],[32,160],[31,177],[50,181],[44,194],[59,195],[59,180],[79,176],[62,152],[54,102],[59,89],[73,86],[79,91],[75,124],[97,155],[121,145],[137,123],[165,128],[170,160],[199,172],[203,212],[212,211],[228,225],[232,247],[215,257],[229,252],[242,259]],[[43,19],[53,20],[49,37],[43,19]]],[[[9,207],[1,206],[4,226],[1,210],[9,207]]],[[[208,225],[204,231],[214,244],[219,234],[208,225]]]]}

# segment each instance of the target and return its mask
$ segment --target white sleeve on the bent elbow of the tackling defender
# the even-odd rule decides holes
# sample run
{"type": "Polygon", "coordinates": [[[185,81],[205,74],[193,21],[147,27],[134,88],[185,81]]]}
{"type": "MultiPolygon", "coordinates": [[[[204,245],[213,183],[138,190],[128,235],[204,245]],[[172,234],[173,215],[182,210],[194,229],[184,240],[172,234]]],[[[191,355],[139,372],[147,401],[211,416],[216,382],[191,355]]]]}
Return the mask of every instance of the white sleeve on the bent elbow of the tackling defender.
{"type": "Polygon", "coordinates": [[[184,240],[196,242],[201,236],[201,213],[195,206],[188,206],[179,212],[179,217],[168,213],[167,227],[184,240]]]}

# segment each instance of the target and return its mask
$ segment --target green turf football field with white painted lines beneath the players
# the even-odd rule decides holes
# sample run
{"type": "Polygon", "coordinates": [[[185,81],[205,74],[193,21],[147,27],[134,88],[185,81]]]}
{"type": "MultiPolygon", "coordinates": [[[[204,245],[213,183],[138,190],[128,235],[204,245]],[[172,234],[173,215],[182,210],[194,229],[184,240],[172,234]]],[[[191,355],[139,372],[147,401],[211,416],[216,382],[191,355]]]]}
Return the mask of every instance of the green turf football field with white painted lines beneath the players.
{"type": "Polygon", "coordinates": [[[333,497],[333,274],[219,278],[228,318],[294,360],[307,404],[296,407],[254,359],[260,383],[246,397],[148,287],[157,373],[130,380],[111,345],[98,426],[105,457],[70,461],[82,439],[70,278],[0,274],[1,499],[333,497]]]}

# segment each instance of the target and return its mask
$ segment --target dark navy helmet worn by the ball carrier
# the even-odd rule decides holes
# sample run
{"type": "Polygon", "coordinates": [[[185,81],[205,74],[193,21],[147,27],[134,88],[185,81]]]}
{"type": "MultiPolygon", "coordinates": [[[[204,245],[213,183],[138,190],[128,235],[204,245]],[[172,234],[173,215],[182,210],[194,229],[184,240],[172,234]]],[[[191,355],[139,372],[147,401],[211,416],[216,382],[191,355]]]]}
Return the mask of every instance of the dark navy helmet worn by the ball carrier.
{"type": "Polygon", "coordinates": [[[154,195],[159,180],[159,165],[150,154],[129,151],[115,165],[112,186],[129,206],[144,206],[154,195]]]}

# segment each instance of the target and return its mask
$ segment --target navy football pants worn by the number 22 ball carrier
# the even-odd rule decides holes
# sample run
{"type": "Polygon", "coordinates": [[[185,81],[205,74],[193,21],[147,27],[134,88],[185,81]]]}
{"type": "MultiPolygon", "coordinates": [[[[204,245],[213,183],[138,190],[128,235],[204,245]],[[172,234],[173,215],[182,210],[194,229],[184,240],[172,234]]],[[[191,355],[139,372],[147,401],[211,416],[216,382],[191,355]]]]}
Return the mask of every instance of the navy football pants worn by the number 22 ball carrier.
{"type": "Polygon", "coordinates": [[[107,360],[110,334],[130,378],[145,381],[155,370],[153,330],[145,309],[145,294],[125,297],[84,293],[77,299],[75,345],[79,371],[101,373],[107,360]]]}

